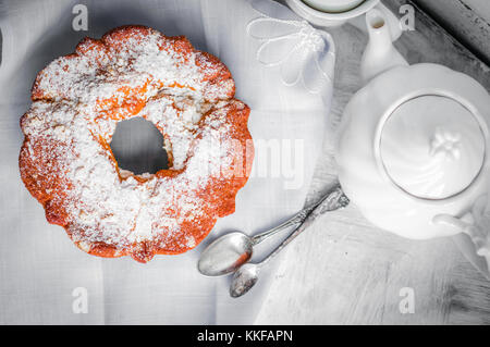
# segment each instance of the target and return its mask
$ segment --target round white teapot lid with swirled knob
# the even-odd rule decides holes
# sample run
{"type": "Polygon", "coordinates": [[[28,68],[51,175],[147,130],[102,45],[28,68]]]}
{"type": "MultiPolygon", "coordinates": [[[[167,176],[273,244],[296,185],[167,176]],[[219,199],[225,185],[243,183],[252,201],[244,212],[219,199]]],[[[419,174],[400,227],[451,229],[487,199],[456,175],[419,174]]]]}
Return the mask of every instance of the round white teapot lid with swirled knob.
{"type": "Polygon", "coordinates": [[[486,151],[473,112],[437,95],[399,106],[383,125],[379,146],[389,178],[422,199],[445,199],[465,190],[478,176],[486,151]]]}

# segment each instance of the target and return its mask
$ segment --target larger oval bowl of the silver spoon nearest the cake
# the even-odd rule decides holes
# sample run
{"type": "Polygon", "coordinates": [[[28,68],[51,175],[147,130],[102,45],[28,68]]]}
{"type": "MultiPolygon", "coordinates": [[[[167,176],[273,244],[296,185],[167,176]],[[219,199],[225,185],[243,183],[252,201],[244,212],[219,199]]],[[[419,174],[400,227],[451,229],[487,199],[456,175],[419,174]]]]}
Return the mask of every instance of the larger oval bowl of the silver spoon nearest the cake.
{"type": "Polygon", "coordinates": [[[200,255],[197,270],[206,276],[222,276],[246,263],[253,252],[250,237],[234,232],[217,238],[200,255]]]}

